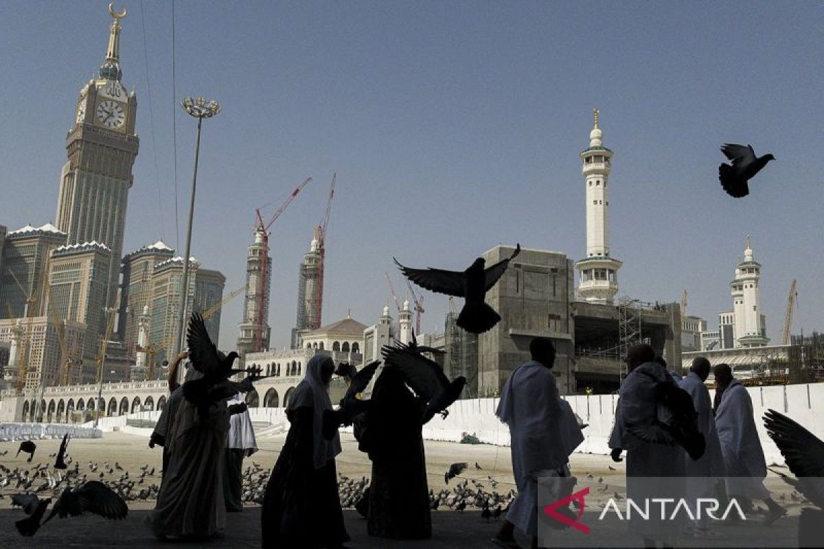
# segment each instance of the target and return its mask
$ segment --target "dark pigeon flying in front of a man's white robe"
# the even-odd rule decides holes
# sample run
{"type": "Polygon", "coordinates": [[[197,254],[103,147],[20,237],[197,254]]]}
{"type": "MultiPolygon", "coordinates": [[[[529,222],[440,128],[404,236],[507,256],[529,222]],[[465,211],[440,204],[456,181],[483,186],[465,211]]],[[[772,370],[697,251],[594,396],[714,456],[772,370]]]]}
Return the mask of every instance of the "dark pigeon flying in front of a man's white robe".
{"type": "Polygon", "coordinates": [[[690,393],[674,384],[659,383],[655,389],[658,406],[672,413],[672,421],[626,426],[630,434],[644,442],[681,446],[695,461],[704,455],[706,440],[698,430],[697,414],[690,393]]]}

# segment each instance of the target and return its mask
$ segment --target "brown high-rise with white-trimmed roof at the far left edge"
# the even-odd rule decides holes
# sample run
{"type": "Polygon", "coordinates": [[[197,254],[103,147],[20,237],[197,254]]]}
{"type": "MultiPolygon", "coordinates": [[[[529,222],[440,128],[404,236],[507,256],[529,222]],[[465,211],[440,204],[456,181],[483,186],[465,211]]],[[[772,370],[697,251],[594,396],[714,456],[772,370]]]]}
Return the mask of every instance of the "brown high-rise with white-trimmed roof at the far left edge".
{"type": "Polygon", "coordinates": [[[64,244],[66,233],[50,223],[40,227],[27,225],[6,235],[0,276],[0,318],[43,314],[49,254],[64,244]]]}

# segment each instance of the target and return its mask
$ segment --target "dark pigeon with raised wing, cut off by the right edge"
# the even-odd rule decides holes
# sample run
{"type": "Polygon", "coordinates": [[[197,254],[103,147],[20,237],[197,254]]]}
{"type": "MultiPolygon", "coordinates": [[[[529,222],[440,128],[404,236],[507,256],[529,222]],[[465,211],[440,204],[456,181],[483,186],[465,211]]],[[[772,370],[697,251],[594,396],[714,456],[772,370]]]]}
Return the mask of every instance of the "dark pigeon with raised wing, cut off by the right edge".
{"type": "Polygon", "coordinates": [[[775,410],[764,414],[764,426],[796,479],[774,472],[819,509],[824,509],[824,442],[775,410]]]}

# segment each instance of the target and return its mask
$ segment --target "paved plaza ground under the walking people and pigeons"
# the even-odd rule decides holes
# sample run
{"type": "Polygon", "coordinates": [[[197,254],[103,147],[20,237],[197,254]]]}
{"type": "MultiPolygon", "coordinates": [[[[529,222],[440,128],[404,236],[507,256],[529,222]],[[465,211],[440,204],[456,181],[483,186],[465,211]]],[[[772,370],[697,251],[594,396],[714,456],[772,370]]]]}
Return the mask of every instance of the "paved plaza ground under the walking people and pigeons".
{"type": "MultiPolygon", "coordinates": [[[[338,458],[338,470],[348,477],[369,477],[370,462],[365,454],[357,449],[357,443],[351,435],[342,435],[343,454],[338,458]]],[[[278,452],[283,445],[285,435],[262,436],[259,439],[260,452],[252,458],[246,460],[245,465],[257,463],[262,468],[269,469],[274,464],[278,452]]],[[[59,447],[59,440],[37,441],[37,453],[32,463],[26,463],[24,454],[19,458],[14,456],[19,443],[0,443],[0,454],[9,450],[8,454],[0,457],[0,463],[7,468],[28,467],[31,468],[36,463],[49,463],[52,461],[49,454],[53,454],[59,447]]],[[[450,442],[438,442],[428,440],[425,442],[428,482],[429,487],[434,491],[439,491],[444,487],[451,489],[456,481],[445,486],[443,473],[450,463],[466,461],[470,463],[470,468],[464,472],[462,478],[474,478],[485,485],[486,491],[493,488],[489,483],[489,476],[493,477],[498,486],[494,490],[499,493],[508,492],[513,485],[512,470],[509,459],[509,449],[495,447],[487,444],[456,444],[450,442]],[[482,470],[475,468],[478,463],[482,470]]],[[[102,439],[98,440],[72,440],[69,444],[69,454],[73,459],[81,464],[81,471],[88,470],[87,464],[91,462],[108,462],[114,466],[118,462],[124,470],[135,477],[140,472],[140,467],[148,464],[149,467],[156,468],[156,474],[147,477],[146,482],[160,482],[159,472],[161,469],[161,449],[149,449],[147,438],[138,435],[127,435],[124,433],[105,433],[102,439]]],[[[572,470],[579,479],[581,486],[591,486],[592,496],[588,497],[588,513],[584,515],[583,521],[594,522],[594,514],[597,514],[599,507],[603,505],[606,498],[617,492],[625,495],[624,463],[612,463],[607,456],[574,454],[572,458],[572,470]],[[613,471],[611,468],[614,468],[613,471]],[[599,482],[600,481],[600,482],[599,482]],[[592,509],[590,511],[589,509],[592,509]]],[[[115,471],[114,475],[105,475],[105,479],[119,477],[122,472],[115,471]]],[[[91,475],[90,475],[91,478],[91,475]]],[[[461,482],[462,478],[457,479],[461,482]]],[[[35,486],[38,483],[35,483],[35,486]]],[[[794,538],[794,531],[797,524],[797,514],[800,505],[789,500],[790,490],[777,477],[770,476],[767,486],[774,491],[776,499],[780,495],[785,495],[782,505],[789,509],[789,516],[777,521],[769,532],[769,537],[764,537],[763,533],[755,539],[751,537],[745,528],[737,526],[722,527],[723,533],[732,539],[740,539],[742,546],[748,547],[769,547],[776,542],[794,538]],[[771,541],[770,541],[771,540],[771,541]]],[[[5,498],[0,500],[0,547],[166,547],[175,545],[180,547],[180,543],[156,542],[143,520],[152,509],[154,502],[130,501],[129,517],[124,521],[114,522],[101,519],[99,517],[82,517],[77,519],[55,519],[47,524],[36,537],[26,539],[19,536],[14,528],[14,521],[21,519],[22,512],[19,509],[11,509],[8,495],[16,493],[14,486],[0,488],[0,494],[5,498]]],[[[449,509],[438,509],[433,512],[433,538],[422,542],[391,542],[383,539],[368,537],[366,534],[366,523],[359,515],[351,510],[344,510],[347,529],[353,542],[349,545],[353,549],[367,547],[433,547],[436,549],[456,547],[493,547],[489,543],[489,537],[499,528],[499,522],[490,521],[486,523],[480,518],[480,511],[477,509],[466,510],[464,512],[452,511],[449,509]]],[[[636,538],[626,532],[623,523],[611,523],[611,539],[616,544],[632,547],[636,544],[636,538]]],[[[579,533],[574,530],[564,530],[553,537],[553,547],[565,547],[576,544],[580,541],[579,533]]],[[[199,545],[199,544],[197,544],[199,545]]],[[[208,542],[208,547],[259,547],[260,546],[260,507],[249,505],[241,514],[229,514],[227,516],[227,533],[222,539],[208,542]]],[[[681,547],[711,547],[711,542],[698,543],[691,538],[689,542],[685,540],[681,547]]]]}

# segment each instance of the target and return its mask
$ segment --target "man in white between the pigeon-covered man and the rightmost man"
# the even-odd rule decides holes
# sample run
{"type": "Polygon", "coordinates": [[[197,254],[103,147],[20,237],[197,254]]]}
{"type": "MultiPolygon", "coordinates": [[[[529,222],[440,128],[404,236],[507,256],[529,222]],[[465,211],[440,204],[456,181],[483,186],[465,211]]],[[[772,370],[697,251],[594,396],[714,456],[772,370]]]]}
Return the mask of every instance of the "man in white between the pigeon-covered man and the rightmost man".
{"type": "MultiPolygon", "coordinates": [[[[690,501],[712,497],[715,483],[724,476],[723,456],[719,435],[715,430],[713,404],[709,398],[709,389],[704,384],[709,377],[709,370],[709,361],[703,356],[696,356],[692,361],[690,373],[679,383],[682,389],[690,393],[695,412],[698,414],[698,430],[706,441],[704,455],[698,459],[694,460],[686,451],[682,452],[686,476],[691,477],[686,484],[686,495],[690,501]]],[[[701,518],[695,520],[693,528],[695,537],[722,537],[719,533],[709,530],[706,514],[701,514],[701,518]]]]}

